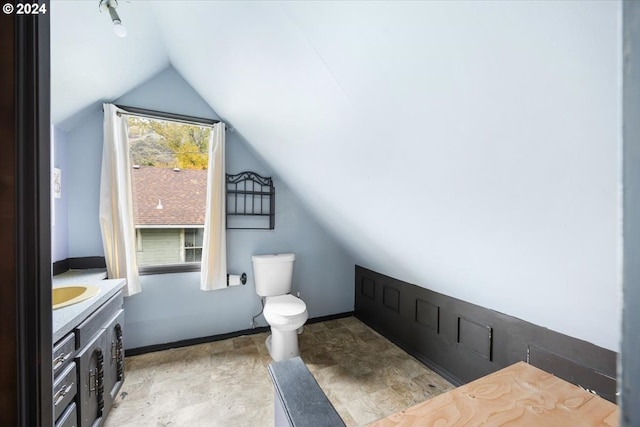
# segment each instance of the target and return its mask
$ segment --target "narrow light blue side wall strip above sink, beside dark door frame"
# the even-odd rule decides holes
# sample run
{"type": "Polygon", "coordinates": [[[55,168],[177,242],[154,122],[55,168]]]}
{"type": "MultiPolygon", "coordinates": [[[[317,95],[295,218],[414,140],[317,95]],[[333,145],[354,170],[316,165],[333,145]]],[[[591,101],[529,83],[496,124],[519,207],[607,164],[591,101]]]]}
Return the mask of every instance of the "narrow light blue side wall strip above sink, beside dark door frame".
{"type": "Polygon", "coordinates": [[[51,225],[51,261],[62,261],[69,257],[69,229],[68,229],[68,199],[69,172],[67,168],[67,133],[57,127],[52,128],[53,151],[51,153],[52,167],[62,171],[62,197],[52,198],[51,225]]]}

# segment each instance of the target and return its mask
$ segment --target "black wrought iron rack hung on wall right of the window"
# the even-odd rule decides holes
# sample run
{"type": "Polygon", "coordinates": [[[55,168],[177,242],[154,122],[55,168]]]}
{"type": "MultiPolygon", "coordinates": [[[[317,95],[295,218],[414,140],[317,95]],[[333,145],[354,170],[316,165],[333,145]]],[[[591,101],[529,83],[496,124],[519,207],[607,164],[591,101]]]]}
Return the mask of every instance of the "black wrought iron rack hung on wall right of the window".
{"type": "Polygon", "coordinates": [[[255,172],[227,174],[227,228],[273,230],[276,189],[270,177],[255,172]]]}

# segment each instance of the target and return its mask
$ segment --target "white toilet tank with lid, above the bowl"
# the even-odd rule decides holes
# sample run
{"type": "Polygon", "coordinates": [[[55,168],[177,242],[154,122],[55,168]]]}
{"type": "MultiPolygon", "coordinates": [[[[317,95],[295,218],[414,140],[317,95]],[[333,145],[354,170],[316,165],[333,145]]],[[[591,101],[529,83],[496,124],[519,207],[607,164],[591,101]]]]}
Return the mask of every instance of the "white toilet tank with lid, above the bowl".
{"type": "Polygon", "coordinates": [[[261,297],[272,297],[291,292],[295,259],[295,254],[252,256],[256,293],[261,297]]]}

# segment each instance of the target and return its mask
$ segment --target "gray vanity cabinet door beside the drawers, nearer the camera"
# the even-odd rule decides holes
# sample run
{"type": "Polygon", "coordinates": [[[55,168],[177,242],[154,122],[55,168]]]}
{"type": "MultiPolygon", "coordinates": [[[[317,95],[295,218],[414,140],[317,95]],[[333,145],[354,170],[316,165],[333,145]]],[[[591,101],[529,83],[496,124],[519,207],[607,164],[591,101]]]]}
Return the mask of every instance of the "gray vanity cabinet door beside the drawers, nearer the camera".
{"type": "Polygon", "coordinates": [[[78,366],[78,420],[81,427],[102,425],[104,411],[104,367],[109,357],[106,331],[100,329],[76,356],[78,366]]]}

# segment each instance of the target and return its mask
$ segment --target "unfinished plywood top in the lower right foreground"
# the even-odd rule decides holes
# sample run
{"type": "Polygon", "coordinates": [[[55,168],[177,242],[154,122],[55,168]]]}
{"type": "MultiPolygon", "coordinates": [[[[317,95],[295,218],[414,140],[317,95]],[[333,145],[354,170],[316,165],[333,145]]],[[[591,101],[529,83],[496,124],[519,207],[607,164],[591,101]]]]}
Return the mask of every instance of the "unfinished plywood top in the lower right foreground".
{"type": "Polygon", "coordinates": [[[618,407],[548,372],[518,362],[370,427],[566,427],[618,425],[618,407]]]}

